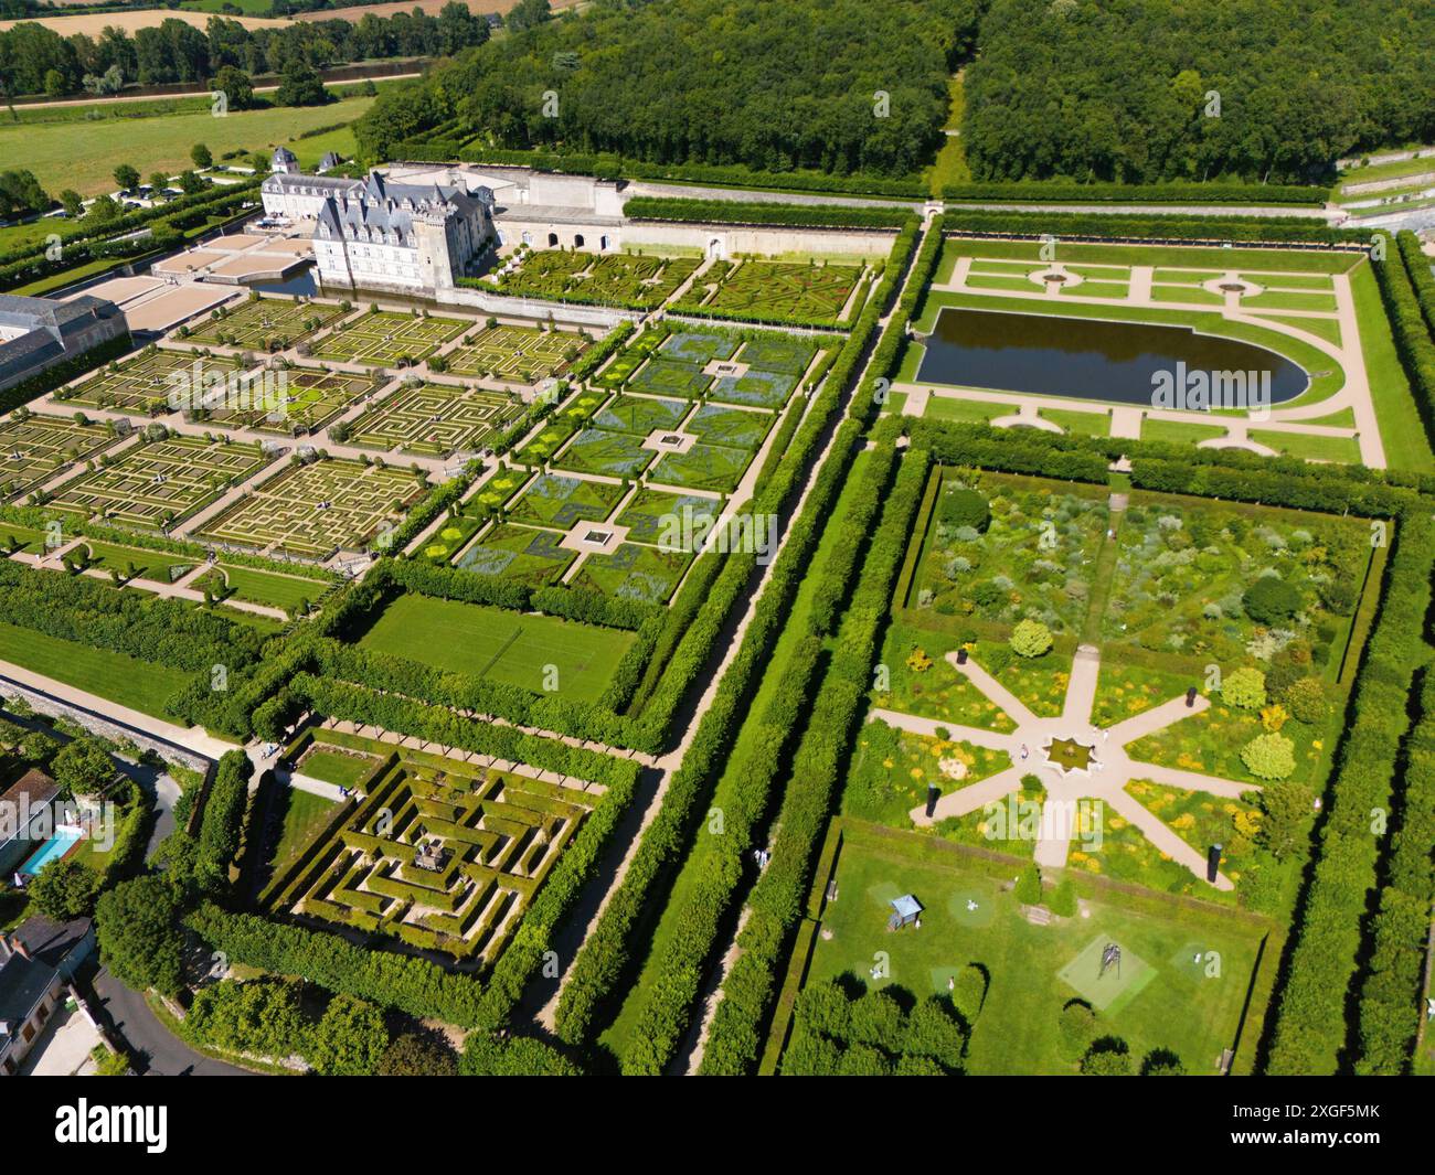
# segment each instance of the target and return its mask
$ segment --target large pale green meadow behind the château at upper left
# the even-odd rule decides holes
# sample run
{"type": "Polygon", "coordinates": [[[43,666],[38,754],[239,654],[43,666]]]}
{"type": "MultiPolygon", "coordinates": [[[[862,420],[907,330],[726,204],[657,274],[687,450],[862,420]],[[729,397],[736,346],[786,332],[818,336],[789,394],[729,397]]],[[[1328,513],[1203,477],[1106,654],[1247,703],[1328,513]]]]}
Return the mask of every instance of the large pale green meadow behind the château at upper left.
{"type": "Polygon", "coordinates": [[[273,149],[316,126],[352,122],[372,105],[372,98],[350,98],[329,106],[231,110],[225,118],[214,118],[205,109],[128,119],[122,129],[108,121],[0,125],[0,158],[24,159],[47,191],[73,188],[92,197],[115,191],[110,172],[116,161],[133,165],[141,175],[177,174],[192,166],[189,148],[197,142],[217,158],[225,151],[273,149]]]}

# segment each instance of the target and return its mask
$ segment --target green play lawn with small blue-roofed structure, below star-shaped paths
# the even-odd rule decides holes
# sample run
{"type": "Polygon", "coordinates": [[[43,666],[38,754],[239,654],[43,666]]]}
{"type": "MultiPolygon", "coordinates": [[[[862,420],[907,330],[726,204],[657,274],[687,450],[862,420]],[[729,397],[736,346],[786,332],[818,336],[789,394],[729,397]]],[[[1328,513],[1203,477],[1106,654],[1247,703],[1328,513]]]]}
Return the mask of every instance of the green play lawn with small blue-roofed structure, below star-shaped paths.
{"type": "MultiPolygon", "coordinates": [[[[1035,925],[1004,888],[1016,869],[1016,861],[1003,869],[930,838],[870,835],[847,822],[838,898],[822,915],[806,981],[851,973],[868,984],[872,958],[884,953],[888,977],[880,986],[921,999],[946,994],[949,978],[980,966],[989,986],[969,1043],[970,1073],[1075,1072],[1059,1026],[1071,1000],[1096,1007],[1096,1036],[1124,1040],[1137,1065],[1170,1049],[1188,1073],[1203,1075],[1217,1072],[1238,1036],[1243,1053],[1254,1050],[1264,1007],[1250,1010],[1244,1032],[1241,1016],[1266,924],[1093,887],[1083,917],[1035,925]],[[920,930],[887,930],[888,902],[901,894],[924,907],[920,930]],[[1098,978],[1108,943],[1122,948],[1121,970],[1098,978]]],[[[1271,951],[1264,966],[1274,966],[1271,951]]]]}

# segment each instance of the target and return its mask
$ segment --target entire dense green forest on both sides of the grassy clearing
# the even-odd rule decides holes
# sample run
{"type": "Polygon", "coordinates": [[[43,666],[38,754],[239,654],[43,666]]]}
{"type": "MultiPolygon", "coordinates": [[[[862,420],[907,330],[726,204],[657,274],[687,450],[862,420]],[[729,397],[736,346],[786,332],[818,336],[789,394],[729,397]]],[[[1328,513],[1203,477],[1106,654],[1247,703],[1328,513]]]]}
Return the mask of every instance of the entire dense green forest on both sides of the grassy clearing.
{"type": "Polygon", "coordinates": [[[907,178],[961,70],[976,182],[1310,184],[1435,138],[1431,60],[1426,0],[597,0],[380,99],[359,138],[907,178]]]}

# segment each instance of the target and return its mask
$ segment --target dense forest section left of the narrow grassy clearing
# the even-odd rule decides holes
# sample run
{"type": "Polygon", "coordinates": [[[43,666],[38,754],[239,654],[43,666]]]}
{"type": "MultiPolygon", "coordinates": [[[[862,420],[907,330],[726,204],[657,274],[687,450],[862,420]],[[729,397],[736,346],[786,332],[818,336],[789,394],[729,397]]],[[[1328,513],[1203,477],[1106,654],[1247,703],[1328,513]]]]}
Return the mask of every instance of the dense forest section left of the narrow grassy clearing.
{"type": "Polygon", "coordinates": [[[983,0],[597,0],[436,69],[359,125],[492,148],[905,175],[941,143],[983,0]]]}

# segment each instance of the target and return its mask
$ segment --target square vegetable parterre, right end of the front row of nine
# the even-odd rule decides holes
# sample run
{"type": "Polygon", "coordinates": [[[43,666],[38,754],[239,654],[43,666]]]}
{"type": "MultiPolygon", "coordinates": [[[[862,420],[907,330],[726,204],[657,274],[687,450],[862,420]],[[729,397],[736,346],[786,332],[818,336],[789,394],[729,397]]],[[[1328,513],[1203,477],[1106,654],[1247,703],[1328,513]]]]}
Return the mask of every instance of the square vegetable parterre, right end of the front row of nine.
{"type": "Polygon", "coordinates": [[[357,461],[291,465],[243,496],[199,535],[211,542],[326,560],[362,551],[425,489],[408,469],[357,461]]]}

